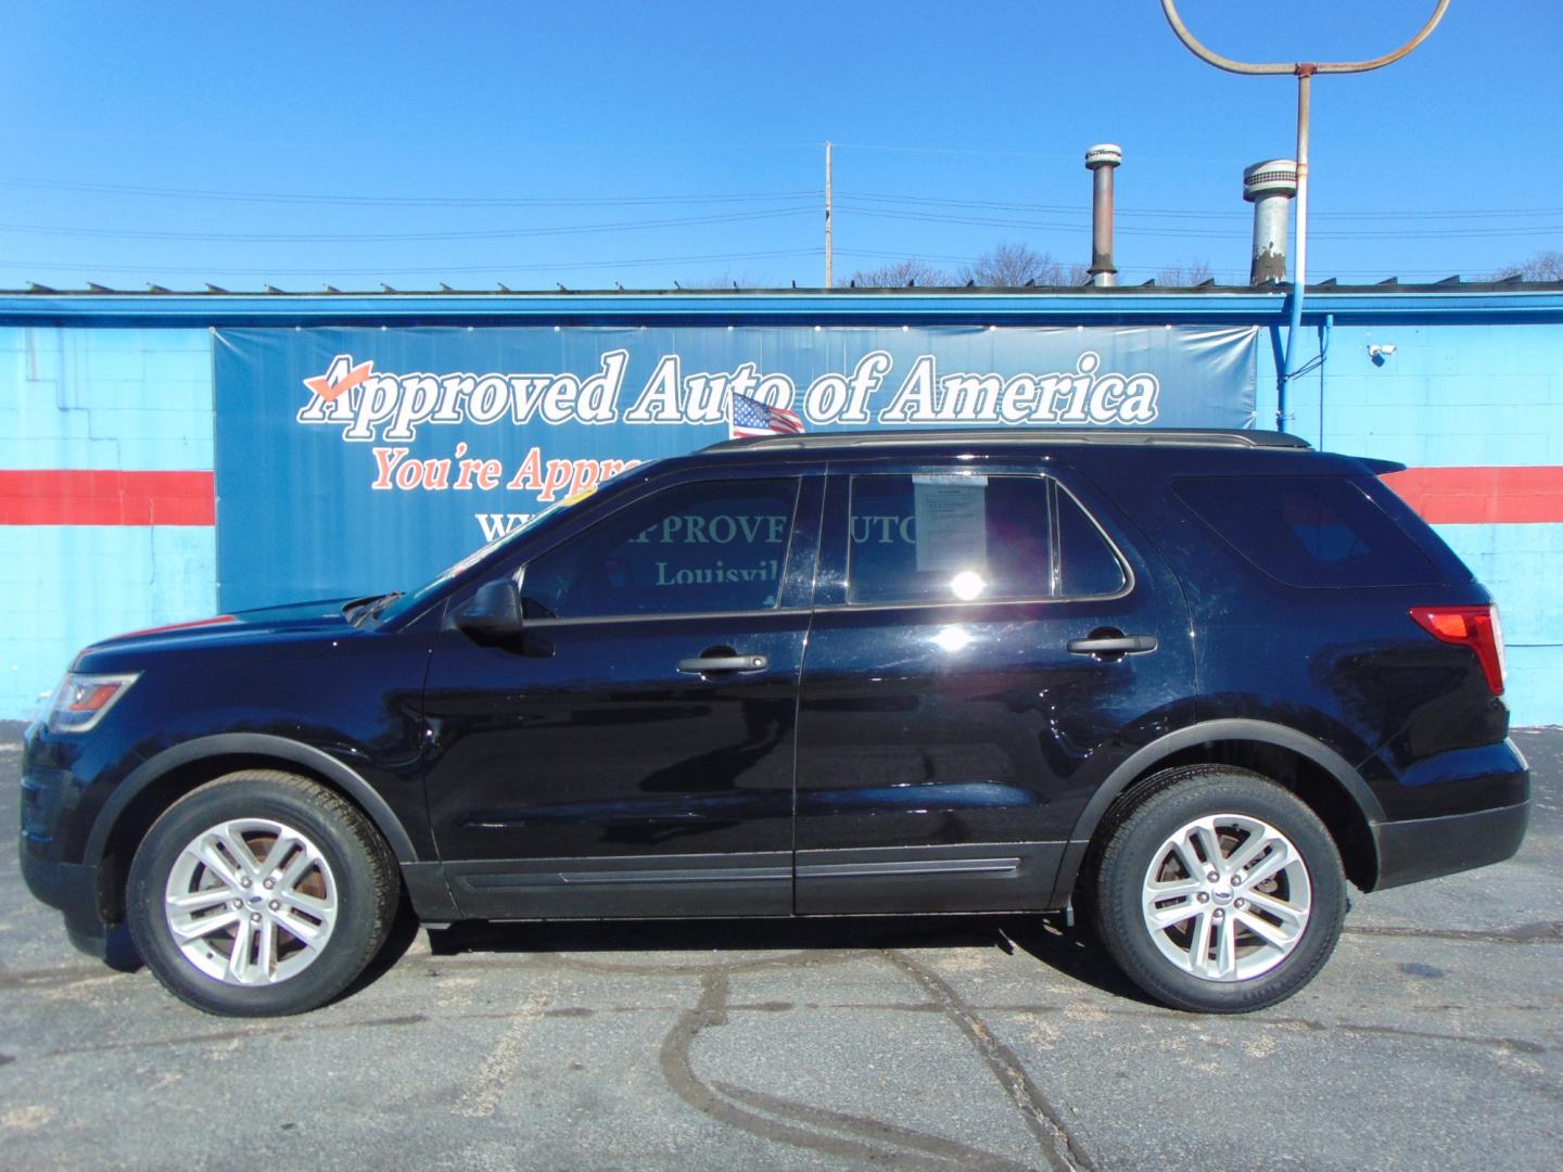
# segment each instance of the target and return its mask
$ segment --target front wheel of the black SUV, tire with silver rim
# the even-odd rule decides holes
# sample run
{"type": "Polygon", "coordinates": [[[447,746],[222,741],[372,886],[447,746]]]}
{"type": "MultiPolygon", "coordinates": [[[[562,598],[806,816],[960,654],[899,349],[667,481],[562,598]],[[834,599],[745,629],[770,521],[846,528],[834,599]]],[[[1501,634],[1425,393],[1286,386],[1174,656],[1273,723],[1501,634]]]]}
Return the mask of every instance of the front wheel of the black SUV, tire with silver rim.
{"type": "Polygon", "coordinates": [[[384,944],[400,889],[364,814],[292,774],[242,770],[186,794],[130,867],[142,959],[180,1000],[228,1017],[338,997],[384,944]]]}

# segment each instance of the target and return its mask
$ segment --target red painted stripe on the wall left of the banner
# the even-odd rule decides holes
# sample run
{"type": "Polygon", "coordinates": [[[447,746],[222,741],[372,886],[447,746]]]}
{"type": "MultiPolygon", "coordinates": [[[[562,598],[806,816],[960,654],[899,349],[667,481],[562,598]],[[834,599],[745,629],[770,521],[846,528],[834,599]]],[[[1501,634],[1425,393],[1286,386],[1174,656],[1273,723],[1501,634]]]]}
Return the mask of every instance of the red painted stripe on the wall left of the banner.
{"type": "Polygon", "coordinates": [[[213,525],[211,472],[0,472],[0,525],[213,525]]]}

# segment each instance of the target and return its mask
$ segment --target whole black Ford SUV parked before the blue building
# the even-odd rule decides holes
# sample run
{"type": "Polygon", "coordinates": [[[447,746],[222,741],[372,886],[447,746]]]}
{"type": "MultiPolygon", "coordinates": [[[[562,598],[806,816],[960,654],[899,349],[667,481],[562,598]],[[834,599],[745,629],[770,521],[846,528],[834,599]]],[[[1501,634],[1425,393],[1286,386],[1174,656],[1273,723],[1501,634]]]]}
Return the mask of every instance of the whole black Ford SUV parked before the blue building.
{"type": "Polygon", "coordinates": [[[1044,913],[1161,1002],[1305,984],[1508,858],[1497,613],[1377,477],[1249,431],[731,441],[427,586],[81,652],[22,866],[178,997],[339,995],[467,919],[1044,913]]]}

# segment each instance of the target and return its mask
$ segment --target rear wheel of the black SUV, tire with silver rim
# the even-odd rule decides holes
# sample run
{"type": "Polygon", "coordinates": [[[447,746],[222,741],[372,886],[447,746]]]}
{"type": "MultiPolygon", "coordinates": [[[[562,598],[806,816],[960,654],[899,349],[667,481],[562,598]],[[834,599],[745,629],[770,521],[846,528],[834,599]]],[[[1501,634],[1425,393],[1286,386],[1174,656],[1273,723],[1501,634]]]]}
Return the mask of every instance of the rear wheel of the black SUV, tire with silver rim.
{"type": "Polygon", "coordinates": [[[1116,824],[1094,913],[1113,959],[1163,1005],[1250,1013],[1324,967],[1346,875],[1296,795],[1243,769],[1193,766],[1153,778],[1116,824]]]}

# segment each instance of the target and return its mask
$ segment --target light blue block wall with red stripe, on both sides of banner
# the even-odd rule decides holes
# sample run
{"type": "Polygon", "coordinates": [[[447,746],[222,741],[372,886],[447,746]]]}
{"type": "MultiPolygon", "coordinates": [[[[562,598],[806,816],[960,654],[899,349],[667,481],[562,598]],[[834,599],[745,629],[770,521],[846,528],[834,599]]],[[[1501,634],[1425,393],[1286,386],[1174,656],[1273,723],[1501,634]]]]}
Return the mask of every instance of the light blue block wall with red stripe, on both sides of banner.
{"type": "MultiPolygon", "coordinates": [[[[1499,600],[1516,724],[1563,724],[1563,523],[1527,519],[1563,517],[1560,359],[1554,323],[1338,327],[1288,405],[1314,444],[1457,473],[1419,505],[1499,600]]],[[[1269,347],[1258,383],[1271,427],[1269,347]]],[[[0,327],[0,717],[94,639],[216,611],[213,406],[205,328],[0,327]]]]}

